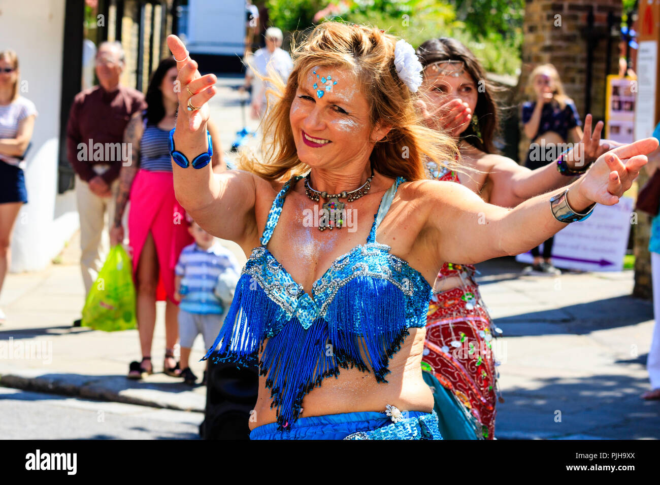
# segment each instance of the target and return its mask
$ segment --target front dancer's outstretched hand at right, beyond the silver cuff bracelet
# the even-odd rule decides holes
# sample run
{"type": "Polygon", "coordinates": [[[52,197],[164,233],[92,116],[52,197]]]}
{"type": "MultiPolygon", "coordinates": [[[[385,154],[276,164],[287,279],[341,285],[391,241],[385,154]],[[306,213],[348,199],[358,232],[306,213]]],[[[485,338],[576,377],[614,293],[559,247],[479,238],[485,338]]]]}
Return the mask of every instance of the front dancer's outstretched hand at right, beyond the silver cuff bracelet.
{"type": "Polygon", "coordinates": [[[571,205],[576,203],[574,209],[579,211],[593,202],[603,205],[618,203],[619,197],[630,189],[640,169],[648,162],[646,154],[657,146],[657,139],[645,138],[599,156],[585,176],[579,179],[576,199],[571,201],[571,205]]]}

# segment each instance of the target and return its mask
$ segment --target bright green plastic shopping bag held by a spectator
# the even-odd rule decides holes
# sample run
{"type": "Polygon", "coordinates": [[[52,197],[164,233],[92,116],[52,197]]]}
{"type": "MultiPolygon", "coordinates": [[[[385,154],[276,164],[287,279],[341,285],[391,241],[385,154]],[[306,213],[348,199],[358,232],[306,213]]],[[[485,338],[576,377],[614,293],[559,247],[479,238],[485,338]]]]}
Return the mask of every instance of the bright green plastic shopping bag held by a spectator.
{"type": "Polygon", "coordinates": [[[81,325],[106,332],[137,327],[133,266],[121,244],[110,249],[110,255],[87,295],[81,325]]]}

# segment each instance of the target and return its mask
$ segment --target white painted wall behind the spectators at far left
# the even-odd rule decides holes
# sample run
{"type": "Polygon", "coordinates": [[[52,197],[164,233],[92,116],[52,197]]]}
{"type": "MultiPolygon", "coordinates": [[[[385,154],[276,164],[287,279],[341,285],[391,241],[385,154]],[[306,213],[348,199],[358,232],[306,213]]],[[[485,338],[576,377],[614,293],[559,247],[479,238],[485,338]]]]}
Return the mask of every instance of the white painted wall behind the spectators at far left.
{"type": "Polygon", "coordinates": [[[38,271],[79,227],[75,193],[57,195],[65,0],[0,0],[0,47],[18,53],[22,96],[38,111],[23,205],[11,243],[12,272],[38,271]]]}

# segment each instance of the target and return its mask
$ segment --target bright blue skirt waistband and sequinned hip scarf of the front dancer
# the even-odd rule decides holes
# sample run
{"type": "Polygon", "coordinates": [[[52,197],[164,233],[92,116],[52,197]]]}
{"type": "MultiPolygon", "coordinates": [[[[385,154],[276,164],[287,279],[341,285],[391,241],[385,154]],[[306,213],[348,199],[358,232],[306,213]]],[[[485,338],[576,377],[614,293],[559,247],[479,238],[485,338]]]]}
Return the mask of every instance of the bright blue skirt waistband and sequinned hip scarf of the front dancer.
{"type": "Polygon", "coordinates": [[[290,431],[278,431],[277,422],[257,426],[249,439],[442,439],[435,411],[407,416],[397,423],[375,411],[310,416],[296,420],[290,431]]]}

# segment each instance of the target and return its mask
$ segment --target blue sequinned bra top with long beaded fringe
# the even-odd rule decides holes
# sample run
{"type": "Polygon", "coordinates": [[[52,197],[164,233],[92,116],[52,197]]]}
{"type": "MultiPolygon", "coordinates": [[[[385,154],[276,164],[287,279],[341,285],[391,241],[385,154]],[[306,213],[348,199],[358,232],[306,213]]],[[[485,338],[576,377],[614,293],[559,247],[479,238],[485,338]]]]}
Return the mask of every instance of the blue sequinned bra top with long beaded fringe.
{"type": "Polygon", "coordinates": [[[284,198],[301,178],[290,178],[275,197],[261,245],[243,268],[222,329],[204,357],[216,350],[216,362],[258,362],[279,430],[290,429],[304,396],[325,377],[337,377],[340,368],[373,371],[376,381],[386,383],[389,358],[410,327],[426,325],[433,294],[418,271],[376,242],[376,229],[405,181],[401,177],[383,195],[367,242],[335,259],[312,285],[312,296],[304,292],[267,248],[284,198]]]}

